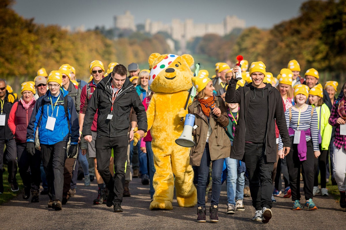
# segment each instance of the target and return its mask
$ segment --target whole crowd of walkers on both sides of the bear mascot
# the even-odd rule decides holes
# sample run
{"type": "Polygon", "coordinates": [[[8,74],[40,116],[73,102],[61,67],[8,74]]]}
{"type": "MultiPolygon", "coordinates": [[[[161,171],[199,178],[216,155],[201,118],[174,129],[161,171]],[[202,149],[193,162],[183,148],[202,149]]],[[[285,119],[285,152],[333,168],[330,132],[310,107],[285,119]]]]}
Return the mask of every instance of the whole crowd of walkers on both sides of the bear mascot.
{"type": "MultiPolygon", "coordinates": [[[[188,106],[197,125],[191,150],[196,154],[190,155],[197,222],[206,222],[209,190],[210,221],[218,222],[225,181],[226,213],[244,211],[243,198],[251,196],[253,221],[268,223],[281,193],[292,199],[292,210],[317,210],[313,197],[329,195],[330,175],[340,191],[340,207],[346,208],[346,83],[341,89],[336,81],[322,86],[318,71],[310,68],[301,76],[296,60],[277,77],[262,61],[240,64],[230,68],[216,63],[215,75],[200,70],[191,79],[197,91],[188,106]],[[240,70],[242,79],[236,78],[240,70]]],[[[96,179],[93,204],[106,203],[122,212],[132,177],[150,186],[152,200],[155,193],[146,120],[154,94],[150,70],[140,70],[136,63],[128,68],[110,63],[106,70],[94,60],[89,71],[87,83],[76,79],[69,64],[49,74],[41,68],[33,81],[21,84],[21,96],[0,79],[0,169],[5,161],[11,190],[18,191],[18,168],[22,198],[39,202],[39,194],[48,195],[48,208],[55,210],[62,210],[77,192],[77,179],[84,178],[85,186],[96,179]]]]}

